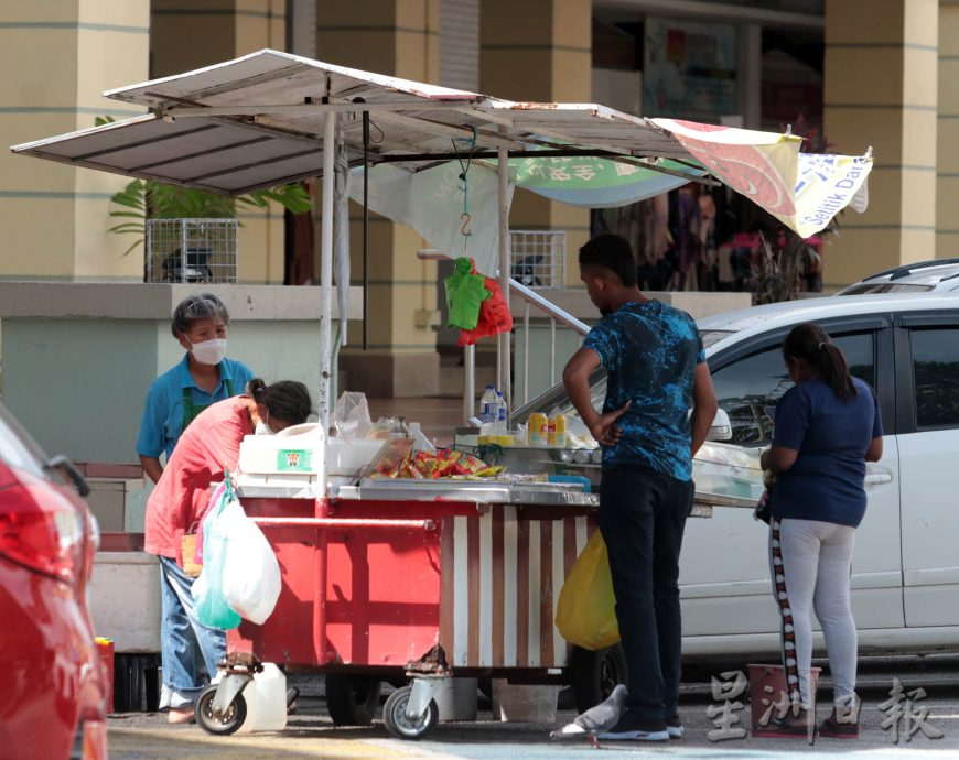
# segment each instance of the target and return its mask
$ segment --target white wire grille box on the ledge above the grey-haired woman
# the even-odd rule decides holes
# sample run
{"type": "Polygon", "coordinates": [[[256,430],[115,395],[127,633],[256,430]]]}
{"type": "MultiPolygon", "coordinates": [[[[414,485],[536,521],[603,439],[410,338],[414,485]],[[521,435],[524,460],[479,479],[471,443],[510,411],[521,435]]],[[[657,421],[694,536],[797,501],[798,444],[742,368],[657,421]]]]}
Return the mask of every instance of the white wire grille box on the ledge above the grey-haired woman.
{"type": "Polygon", "coordinates": [[[237,281],[236,219],[148,219],[147,282],[237,281]]]}

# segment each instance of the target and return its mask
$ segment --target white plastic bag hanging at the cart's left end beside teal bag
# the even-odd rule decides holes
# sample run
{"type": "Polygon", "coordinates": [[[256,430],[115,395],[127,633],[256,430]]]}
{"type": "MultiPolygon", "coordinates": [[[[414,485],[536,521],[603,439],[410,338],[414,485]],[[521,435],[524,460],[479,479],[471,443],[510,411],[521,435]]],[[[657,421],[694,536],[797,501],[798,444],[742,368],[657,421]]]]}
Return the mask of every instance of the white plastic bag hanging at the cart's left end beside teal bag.
{"type": "Polygon", "coordinates": [[[223,595],[243,618],[263,623],[280,598],[280,563],[267,536],[236,500],[220,515],[229,540],[223,566],[223,595]]]}

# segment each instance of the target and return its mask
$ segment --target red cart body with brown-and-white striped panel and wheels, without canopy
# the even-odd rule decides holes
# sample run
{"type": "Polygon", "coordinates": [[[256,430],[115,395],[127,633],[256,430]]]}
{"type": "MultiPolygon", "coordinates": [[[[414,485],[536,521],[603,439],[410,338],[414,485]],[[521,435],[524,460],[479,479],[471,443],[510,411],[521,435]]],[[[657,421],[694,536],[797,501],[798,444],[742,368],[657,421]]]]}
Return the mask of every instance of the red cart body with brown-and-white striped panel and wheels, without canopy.
{"type": "MultiPolygon", "coordinates": [[[[412,442],[384,447],[405,443],[412,442]]],[[[280,456],[302,445],[282,435],[269,444],[280,456]]],[[[755,457],[733,464],[715,458],[720,447],[707,446],[711,460],[697,460],[714,491],[697,495],[697,517],[715,503],[752,507],[758,497],[755,457]]],[[[433,695],[451,677],[601,680],[593,655],[573,656],[553,622],[563,579],[596,528],[597,496],[585,488],[599,468],[589,458],[574,463],[573,453],[514,447],[510,460],[526,460],[525,471],[482,480],[362,474],[322,499],[314,474],[241,473],[238,493],[277,552],[283,587],[263,625],[245,621],[228,633],[230,675],[200,696],[201,724],[229,732],[243,723],[233,693],[258,662],[326,673],[341,725],[369,723],[376,681],[411,678],[384,708],[388,729],[402,738],[433,728],[433,695]],[[571,484],[570,473],[584,482],[571,484]],[[223,707],[215,704],[220,695],[223,707]]]]}

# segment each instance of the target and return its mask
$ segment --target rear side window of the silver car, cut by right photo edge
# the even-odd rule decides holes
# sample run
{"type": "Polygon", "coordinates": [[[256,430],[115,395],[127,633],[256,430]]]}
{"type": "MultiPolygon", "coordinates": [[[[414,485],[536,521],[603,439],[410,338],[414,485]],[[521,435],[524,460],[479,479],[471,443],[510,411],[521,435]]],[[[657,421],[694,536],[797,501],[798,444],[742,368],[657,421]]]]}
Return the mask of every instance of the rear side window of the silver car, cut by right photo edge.
{"type": "Polygon", "coordinates": [[[916,427],[959,426],[959,328],[913,329],[916,427]]]}

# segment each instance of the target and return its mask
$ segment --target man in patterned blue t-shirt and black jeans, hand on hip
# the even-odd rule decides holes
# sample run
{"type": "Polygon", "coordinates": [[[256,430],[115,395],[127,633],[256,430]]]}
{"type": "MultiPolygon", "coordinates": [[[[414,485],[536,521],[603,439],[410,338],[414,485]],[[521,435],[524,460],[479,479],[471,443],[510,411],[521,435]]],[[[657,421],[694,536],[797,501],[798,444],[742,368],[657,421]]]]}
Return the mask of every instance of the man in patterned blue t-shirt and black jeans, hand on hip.
{"type": "Polygon", "coordinates": [[[629,691],[619,723],[601,738],[678,739],[679,551],[692,510],[692,455],[715,415],[715,392],[696,323],[639,292],[626,240],[590,240],[580,249],[580,276],[603,318],[570,359],[563,383],[603,447],[600,530],[629,691]],[[601,366],[602,414],[589,386],[601,366]]]}

